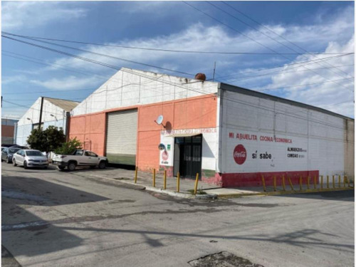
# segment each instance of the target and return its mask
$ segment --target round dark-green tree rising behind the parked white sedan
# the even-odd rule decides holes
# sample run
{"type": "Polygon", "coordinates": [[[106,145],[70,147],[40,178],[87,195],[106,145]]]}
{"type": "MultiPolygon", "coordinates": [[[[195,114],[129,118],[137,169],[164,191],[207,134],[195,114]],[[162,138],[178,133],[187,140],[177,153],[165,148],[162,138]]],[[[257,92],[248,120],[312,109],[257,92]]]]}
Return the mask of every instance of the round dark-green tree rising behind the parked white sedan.
{"type": "Polygon", "coordinates": [[[66,135],[63,129],[55,126],[49,126],[46,130],[41,128],[33,129],[31,135],[27,138],[27,143],[33,150],[50,152],[61,147],[66,142],[66,135]]]}

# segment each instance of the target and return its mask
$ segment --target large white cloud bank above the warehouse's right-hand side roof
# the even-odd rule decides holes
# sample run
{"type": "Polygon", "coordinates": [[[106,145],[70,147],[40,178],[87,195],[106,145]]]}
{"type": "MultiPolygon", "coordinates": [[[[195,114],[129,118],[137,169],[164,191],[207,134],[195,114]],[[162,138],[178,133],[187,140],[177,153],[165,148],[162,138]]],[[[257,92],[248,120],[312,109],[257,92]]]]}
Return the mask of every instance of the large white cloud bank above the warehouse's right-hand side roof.
{"type": "MultiPolygon", "coordinates": [[[[347,43],[330,42],[325,49],[325,53],[345,53],[354,51],[355,36],[352,36],[347,43]]],[[[313,59],[310,55],[304,55],[313,59]]],[[[326,57],[326,55],[321,56],[326,57]]],[[[305,58],[299,56],[295,62],[305,61],[305,58]]],[[[294,68],[286,66],[283,70],[286,72],[271,76],[272,82],[265,88],[282,88],[280,90],[267,90],[265,93],[281,94],[291,100],[316,105],[333,112],[341,113],[350,117],[354,116],[354,55],[333,58],[329,61],[320,61],[313,63],[307,68],[323,68],[318,70],[305,70],[303,67],[294,68]],[[327,62],[327,63],[326,63],[327,62]],[[330,66],[344,66],[340,68],[330,68],[330,66]],[[303,71],[301,71],[303,70],[303,71]],[[350,79],[347,79],[350,78],[350,79]],[[345,80],[342,80],[345,79],[345,80]],[[337,80],[330,82],[331,80],[337,80]],[[325,83],[327,82],[327,83],[325,83]],[[299,86],[304,85],[304,86],[299,86]],[[291,87],[295,86],[295,87],[291,87]],[[283,87],[285,87],[283,89],[283,87]]]]}

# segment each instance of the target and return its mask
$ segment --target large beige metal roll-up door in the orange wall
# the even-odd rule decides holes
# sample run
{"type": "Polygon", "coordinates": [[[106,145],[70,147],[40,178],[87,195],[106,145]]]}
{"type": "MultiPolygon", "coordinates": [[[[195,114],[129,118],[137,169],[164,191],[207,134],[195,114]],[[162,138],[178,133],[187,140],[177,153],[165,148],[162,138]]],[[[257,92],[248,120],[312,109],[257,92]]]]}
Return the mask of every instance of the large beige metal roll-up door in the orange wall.
{"type": "Polygon", "coordinates": [[[108,113],[106,157],[110,163],[136,164],[137,110],[108,113]]]}

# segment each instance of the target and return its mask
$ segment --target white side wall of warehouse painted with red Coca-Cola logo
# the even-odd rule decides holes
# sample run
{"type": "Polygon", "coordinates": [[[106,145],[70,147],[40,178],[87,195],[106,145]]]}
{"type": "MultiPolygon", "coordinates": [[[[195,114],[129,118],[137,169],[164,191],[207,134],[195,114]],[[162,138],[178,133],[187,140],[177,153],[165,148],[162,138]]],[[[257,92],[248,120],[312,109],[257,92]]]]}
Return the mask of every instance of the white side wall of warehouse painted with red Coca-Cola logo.
{"type": "MultiPolygon", "coordinates": [[[[223,173],[319,170],[320,175],[343,174],[344,119],[230,91],[224,91],[221,102],[223,173]],[[229,137],[229,133],[234,136],[229,137]],[[276,142],[273,137],[290,140],[290,143],[276,142]],[[273,141],[266,141],[268,138],[273,141]],[[246,160],[242,164],[234,159],[237,145],[246,149],[246,160]],[[303,152],[290,152],[288,147],[303,152]],[[263,159],[264,154],[271,155],[271,159],[263,159]],[[298,157],[288,157],[288,154],[298,157]]],[[[244,157],[244,153],[235,155],[244,157]]]]}

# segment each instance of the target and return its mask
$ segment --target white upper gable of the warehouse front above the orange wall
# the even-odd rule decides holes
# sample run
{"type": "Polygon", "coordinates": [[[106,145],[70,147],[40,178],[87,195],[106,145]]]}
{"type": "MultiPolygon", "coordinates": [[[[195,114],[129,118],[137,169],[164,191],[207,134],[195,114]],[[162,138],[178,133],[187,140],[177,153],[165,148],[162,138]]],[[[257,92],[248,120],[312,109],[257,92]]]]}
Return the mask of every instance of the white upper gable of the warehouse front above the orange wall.
{"type": "Polygon", "coordinates": [[[218,83],[122,68],[75,107],[71,115],[216,93],[218,83]]]}

